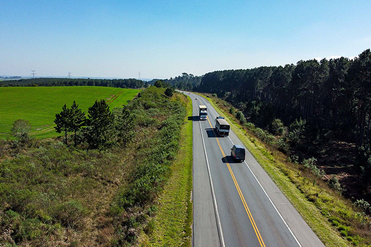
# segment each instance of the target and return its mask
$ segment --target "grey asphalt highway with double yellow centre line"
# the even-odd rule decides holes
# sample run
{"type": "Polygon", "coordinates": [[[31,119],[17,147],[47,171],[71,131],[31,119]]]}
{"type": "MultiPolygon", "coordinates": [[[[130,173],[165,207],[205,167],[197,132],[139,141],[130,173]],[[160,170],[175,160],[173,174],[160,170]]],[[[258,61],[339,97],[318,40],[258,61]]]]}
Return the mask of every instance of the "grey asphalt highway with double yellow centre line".
{"type": "Polygon", "coordinates": [[[193,104],[193,246],[323,247],[247,150],[245,162],[233,162],[231,148],[242,143],[232,130],[216,134],[209,102],[185,94],[193,104]],[[199,105],[208,120],[199,121],[199,105]]]}

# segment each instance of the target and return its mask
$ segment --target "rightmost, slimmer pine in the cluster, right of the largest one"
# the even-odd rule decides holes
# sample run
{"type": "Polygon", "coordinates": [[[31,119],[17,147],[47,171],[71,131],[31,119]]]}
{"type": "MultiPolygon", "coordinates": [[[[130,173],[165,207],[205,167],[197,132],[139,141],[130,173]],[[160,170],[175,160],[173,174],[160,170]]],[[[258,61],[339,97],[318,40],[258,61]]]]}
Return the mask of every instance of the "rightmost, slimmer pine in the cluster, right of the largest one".
{"type": "Polygon", "coordinates": [[[127,107],[124,107],[118,117],[116,125],[118,136],[122,140],[124,146],[133,140],[135,135],[134,126],[134,118],[130,114],[130,110],[127,107]]]}

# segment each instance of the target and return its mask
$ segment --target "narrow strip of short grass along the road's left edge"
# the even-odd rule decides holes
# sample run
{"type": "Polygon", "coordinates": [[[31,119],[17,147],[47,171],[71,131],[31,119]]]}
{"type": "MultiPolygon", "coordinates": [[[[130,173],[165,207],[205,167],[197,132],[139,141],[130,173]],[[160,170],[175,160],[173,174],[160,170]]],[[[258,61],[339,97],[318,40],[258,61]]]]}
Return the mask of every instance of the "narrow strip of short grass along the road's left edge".
{"type": "MultiPolygon", "coordinates": [[[[188,97],[185,103],[187,116],[192,116],[192,102],[188,97]]],[[[172,175],[157,201],[155,229],[148,235],[142,233],[137,246],[191,246],[192,136],[192,121],[185,118],[181,130],[180,150],[172,165],[172,175]]]]}

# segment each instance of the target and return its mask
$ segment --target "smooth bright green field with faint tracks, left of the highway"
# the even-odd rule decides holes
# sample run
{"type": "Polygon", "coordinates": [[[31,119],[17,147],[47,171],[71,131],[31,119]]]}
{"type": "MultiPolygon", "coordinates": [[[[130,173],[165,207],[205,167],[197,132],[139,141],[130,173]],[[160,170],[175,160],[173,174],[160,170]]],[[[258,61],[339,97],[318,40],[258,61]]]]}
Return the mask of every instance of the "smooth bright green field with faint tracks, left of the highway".
{"type": "Polygon", "coordinates": [[[59,135],[54,119],[64,104],[70,107],[75,100],[88,114],[95,100],[104,99],[113,109],[127,104],[139,91],[104,86],[0,87],[0,138],[10,137],[12,123],[17,119],[29,121],[37,138],[59,135]]]}

